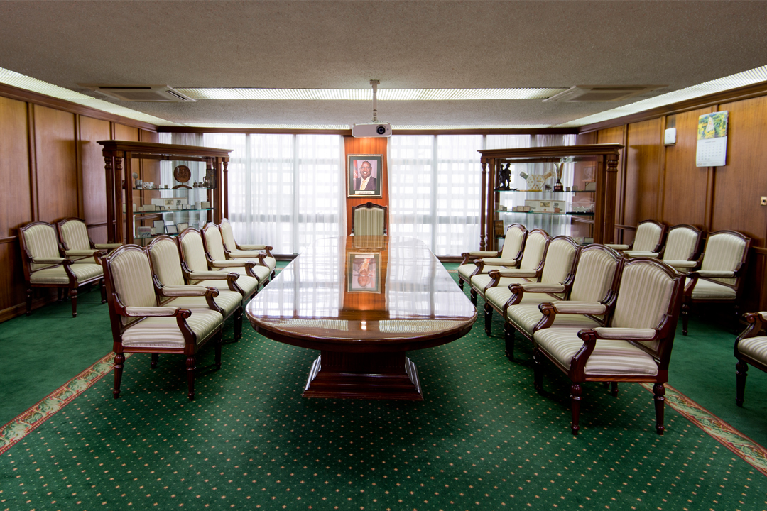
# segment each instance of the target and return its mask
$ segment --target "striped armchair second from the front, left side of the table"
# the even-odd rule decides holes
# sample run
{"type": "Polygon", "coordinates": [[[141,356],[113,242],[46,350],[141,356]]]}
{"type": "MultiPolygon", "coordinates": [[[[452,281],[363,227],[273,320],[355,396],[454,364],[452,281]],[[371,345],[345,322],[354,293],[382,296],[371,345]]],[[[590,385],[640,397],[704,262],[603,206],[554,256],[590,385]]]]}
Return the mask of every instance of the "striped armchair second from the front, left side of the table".
{"type": "MultiPolygon", "coordinates": [[[[209,310],[207,297],[179,295],[179,291],[186,289],[183,271],[181,270],[181,258],[176,241],[166,235],[155,237],[146,247],[149,254],[152,280],[155,287],[158,306],[173,306],[189,309],[192,312],[202,309],[209,310]]],[[[199,286],[216,287],[219,296],[213,301],[224,316],[224,321],[234,318],[235,340],[242,337],[242,293],[237,287],[237,274],[220,273],[213,279],[204,281],[199,286]],[[215,285],[212,283],[215,281],[215,285]]],[[[214,276],[215,277],[215,276],[214,276]]]]}

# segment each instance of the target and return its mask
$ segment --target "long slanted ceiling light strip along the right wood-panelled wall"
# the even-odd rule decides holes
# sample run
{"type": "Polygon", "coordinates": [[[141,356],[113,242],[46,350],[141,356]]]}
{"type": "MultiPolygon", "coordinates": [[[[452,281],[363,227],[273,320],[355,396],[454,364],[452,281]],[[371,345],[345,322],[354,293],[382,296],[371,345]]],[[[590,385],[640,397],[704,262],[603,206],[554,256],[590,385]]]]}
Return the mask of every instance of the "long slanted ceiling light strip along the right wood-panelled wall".
{"type": "Polygon", "coordinates": [[[674,90],[670,93],[660,96],[650,97],[647,100],[637,101],[626,106],[618,106],[612,110],[594,113],[594,115],[581,117],[581,119],[571,120],[568,123],[560,124],[557,127],[577,127],[587,124],[601,123],[605,120],[616,119],[617,117],[627,116],[632,113],[644,112],[658,106],[666,106],[672,103],[679,103],[684,100],[691,100],[696,97],[706,96],[723,90],[736,89],[746,85],[759,84],[767,81],[767,66],[756,67],[755,69],[743,71],[742,73],[732,74],[729,77],[711,80],[703,84],[686,87],[686,89],[674,90]]]}

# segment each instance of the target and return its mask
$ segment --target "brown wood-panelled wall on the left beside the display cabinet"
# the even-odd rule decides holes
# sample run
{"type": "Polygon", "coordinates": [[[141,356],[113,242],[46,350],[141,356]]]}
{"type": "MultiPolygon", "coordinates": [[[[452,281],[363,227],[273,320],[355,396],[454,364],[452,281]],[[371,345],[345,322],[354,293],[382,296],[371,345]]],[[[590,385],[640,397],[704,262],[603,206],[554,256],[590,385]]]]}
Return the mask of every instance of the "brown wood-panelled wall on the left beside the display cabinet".
{"type": "MultiPolygon", "coordinates": [[[[104,158],[96,141],[157,139],[157,133],[143,123],[130,126],[130,120],[118,123],[109,114],[104,119],[83,115],[76,105],[58,108],[45,98],[39,102],[12,99],[2,95],[4,90],[0,90],[4,184],[0,192],[0,321],[23,314],[26,308],[18,228],[32,221],[53,223],[79,217],[95,242],[106,242],[104,158]]],[[[55,297],[55,293],[36,293],[35,308],[55,297]]]]}

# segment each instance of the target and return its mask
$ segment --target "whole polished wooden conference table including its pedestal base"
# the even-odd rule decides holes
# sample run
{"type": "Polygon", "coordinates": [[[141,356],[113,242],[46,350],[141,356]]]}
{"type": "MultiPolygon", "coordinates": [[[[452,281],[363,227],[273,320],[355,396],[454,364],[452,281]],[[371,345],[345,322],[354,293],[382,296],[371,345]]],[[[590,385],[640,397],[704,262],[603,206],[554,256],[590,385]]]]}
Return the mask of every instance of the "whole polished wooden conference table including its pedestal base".
{"type": "Polygon", "coordinates": [[[307,398],[423,399],[405,353],[466,335],[476,308],[410,237],[324,238],[248,304],[255,330],[321,351],[307,398]]]}

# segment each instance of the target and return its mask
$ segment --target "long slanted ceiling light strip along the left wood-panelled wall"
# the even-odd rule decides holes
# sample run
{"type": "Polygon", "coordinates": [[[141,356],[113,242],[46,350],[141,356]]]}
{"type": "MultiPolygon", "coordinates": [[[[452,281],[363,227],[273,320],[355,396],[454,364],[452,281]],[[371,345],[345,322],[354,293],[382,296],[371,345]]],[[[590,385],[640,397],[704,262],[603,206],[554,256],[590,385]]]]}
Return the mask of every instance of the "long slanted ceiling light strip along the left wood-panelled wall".
{"type": "Polygon", "coordinates": [[[58,85],[48,84],[42,80],[28,77],[24,74],[16,73],[15,71],[4,69],[0,67],[0,84],[12,85],[19,89],[31,90],[32,92],[45,94],[46,96],[55,97],[59,100],[67,100],[78,105],[90,106],[96,110],[103,112],[114,113],[118,116],[127,117],[128,119],[142,121],[144,123],[155,124],[157,126],[182,126],[181,124],[171,123],[160,117],[150,116],[147,113],[138,112],[137,110],[131,110],[125,106],[116,105],[109,101],[97,100],[94,97],[74,92],[74,90],[64,89],[64,87],[58,87],[58,85]]]}

